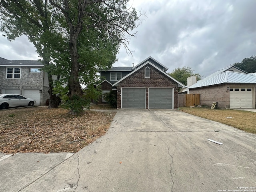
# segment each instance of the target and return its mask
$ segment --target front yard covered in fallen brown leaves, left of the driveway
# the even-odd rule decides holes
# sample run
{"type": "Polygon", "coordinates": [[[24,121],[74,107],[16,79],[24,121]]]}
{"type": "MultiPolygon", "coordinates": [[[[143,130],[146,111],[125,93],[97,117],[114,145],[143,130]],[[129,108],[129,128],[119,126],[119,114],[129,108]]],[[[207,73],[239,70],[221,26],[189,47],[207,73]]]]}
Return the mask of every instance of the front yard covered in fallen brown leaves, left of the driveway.
{"type": "Polygon", "coordinates": [[[67,112],[47,106],[0,110],[0,152],[78,152],[104,135],[116,114],[67,112]]]}

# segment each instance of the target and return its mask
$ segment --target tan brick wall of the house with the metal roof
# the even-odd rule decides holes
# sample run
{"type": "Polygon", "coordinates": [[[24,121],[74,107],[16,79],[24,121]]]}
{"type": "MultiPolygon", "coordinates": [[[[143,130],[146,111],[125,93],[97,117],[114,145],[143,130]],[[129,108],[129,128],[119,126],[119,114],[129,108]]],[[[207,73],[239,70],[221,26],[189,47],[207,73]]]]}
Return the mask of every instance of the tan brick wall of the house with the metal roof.
{"type": "Polygon", "coordinates": [[[253,88],[252,98],[255,108],[256,84],[220,84],[190,89],[189,94],[200,94],[200,105],[212,106],[213,102],[218,102],[218,108],[230,108],[230,92],[227,87],[253,88]]]}

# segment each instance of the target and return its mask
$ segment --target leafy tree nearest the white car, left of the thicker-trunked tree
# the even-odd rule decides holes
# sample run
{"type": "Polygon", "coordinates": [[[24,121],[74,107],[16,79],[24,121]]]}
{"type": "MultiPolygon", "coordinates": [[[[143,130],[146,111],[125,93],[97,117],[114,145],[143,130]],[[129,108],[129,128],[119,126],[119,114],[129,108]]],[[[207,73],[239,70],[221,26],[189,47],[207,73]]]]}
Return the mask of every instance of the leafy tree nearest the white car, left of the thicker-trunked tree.
{"type": "MultiPolygon", "coordinates": [[[[50,95],[49,108],[57,108],[60,98],[53,93],[54,80],[52,75],[52,54],[62,52],[62,36],[56,25],[56,11],[47,0],[0,0],[0,30],[12,41],[22,34],[34,44],[42,63],[48,73],[50,95]]],[[[59,77],[59,76],[58,76],[59,77]]]]}

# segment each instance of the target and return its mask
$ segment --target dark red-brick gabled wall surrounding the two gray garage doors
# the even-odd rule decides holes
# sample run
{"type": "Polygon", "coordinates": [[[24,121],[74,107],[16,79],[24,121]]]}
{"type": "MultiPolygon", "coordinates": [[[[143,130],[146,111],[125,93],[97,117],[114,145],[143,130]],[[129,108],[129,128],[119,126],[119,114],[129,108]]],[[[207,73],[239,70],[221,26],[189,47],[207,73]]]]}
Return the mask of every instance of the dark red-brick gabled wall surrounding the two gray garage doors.
{"type": "Polygon", "coordinates": [[[124,80],[119,82],[117,87],[117,108],[121,108],[121,88],[122,87],[146,87],[146,108],[148,109],[148,88],[174,88],[174,109],[178,108],[178,89],[177,82],[162,74],[159,70],[154,68],[152,65],[147,64],[140,68],[135,73],[126,77],[124,80]],[[144,70],[146,67],[150,68],[150,78],[145,78],[144,70]]]}

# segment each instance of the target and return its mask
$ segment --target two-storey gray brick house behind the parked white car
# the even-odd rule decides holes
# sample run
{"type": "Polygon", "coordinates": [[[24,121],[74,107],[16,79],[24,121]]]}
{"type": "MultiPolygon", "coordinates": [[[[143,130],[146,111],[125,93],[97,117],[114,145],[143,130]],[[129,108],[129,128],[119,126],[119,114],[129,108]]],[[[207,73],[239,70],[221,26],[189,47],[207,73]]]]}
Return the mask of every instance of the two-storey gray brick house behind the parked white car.
{"type": "Polygon", "coordinates": [[[45,105],[49,98],[48,77],[38,61],[0,58],[0,93],[20,94],[45,105]]]}

